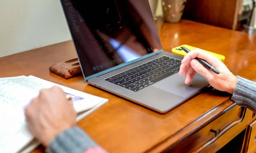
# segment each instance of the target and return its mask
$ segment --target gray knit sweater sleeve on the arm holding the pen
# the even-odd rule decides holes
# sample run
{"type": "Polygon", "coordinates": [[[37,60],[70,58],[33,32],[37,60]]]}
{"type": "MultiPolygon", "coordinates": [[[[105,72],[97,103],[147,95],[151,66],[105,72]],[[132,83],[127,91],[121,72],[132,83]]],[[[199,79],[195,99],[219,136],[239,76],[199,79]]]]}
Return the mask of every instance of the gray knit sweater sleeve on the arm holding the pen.
{"type": "Polygon", "coordinates": [[[256,82],[238,76],[238,82],[231,99],[237,105],[256,112],[256,82]]]}

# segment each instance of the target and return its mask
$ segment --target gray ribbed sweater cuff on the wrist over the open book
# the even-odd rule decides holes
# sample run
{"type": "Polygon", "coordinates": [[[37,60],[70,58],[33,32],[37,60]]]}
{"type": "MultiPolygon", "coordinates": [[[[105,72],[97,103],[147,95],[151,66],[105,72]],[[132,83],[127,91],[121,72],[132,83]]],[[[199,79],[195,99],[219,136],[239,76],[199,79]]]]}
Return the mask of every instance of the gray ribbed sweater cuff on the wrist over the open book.
{"type": "Polygon", "coordinates": [[[58,134],[46,148],[47,153],[83,153],[90,147],[98,146],[78,126],[58,134]]]}

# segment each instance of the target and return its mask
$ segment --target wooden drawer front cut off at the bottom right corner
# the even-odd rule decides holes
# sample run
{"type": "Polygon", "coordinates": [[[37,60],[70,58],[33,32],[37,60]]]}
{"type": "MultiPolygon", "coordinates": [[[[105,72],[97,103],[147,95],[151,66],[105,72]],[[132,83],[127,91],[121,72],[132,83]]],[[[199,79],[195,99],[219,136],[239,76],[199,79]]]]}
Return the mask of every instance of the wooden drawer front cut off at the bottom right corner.
{"type": "Polygon", "coordinates": [[[256,152],[256,119],[254,119],[246,129],[244,153],[256,152]]]}

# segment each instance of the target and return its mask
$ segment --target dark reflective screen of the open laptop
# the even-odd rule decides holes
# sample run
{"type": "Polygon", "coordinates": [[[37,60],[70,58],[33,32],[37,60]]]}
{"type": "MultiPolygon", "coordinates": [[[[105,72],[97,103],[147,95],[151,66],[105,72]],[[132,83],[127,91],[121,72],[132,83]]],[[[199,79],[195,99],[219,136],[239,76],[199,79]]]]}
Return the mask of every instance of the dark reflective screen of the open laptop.
{"type": "Polygon", "coordinates": [[[148,0],[61,0],[84,77],[162,49],[148,0]]]}

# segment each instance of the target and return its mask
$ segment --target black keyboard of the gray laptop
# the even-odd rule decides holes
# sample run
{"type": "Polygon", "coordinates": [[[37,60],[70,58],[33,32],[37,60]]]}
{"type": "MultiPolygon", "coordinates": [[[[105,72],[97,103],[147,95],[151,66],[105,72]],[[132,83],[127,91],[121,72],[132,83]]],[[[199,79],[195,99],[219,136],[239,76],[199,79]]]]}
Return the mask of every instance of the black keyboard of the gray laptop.
{"type": "Polygon", "coordinates": [[[178,59],[163,56],[105,80],[137,92],[178,73],[180,64],[181,61],[178,59]]]}

